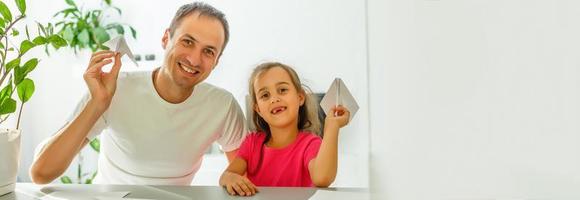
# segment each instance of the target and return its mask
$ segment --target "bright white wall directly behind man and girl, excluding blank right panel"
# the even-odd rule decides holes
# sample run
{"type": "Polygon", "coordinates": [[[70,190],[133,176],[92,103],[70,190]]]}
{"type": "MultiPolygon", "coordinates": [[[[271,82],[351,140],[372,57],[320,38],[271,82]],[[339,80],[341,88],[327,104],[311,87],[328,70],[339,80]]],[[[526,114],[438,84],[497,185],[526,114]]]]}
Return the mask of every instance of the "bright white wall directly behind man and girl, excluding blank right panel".
{"type": "MultiPolygon", "coordinates": [[[[29,0],[29,18],[48,22],[64,8],[64,1],[29,0]]],[[[85,7],[95,6],[85,1],[85,7]]],[[[147,70],[159,66],[163,55],[161,36],[176,9],[191,1],[113,1],[123,10],[120,19],[133,25],[138,40],[129,39],[136,54],[156,54],[157,60],[131,65],[122,70],[147,70]]],[[[368,89],[365,4],[362,1],[209,1],[221,9],[230,23],[230,43],[208,82],[231,91],[245,104],[251,69],[263,61],[281,61],[294,66],[315,92],[325,92],[334,77],[341,77],[358,100],[361,109],[344,128],[340,138],[339,174],[335,186],[368,186],[368,89]]],[[[82,4],[82,3],[78,3],[82,4]]],[[[114,18],[114,17],[113,17],[114,18]]],[[[35,55],[42,55],[38,50],[35,55]]],[[[32,146],[57,131],[74,108],[85,88],[82,72],[88,52],[73,56],[61,51],[44,58],[31,74],[36,94],[24,110],[22,180],[29,180],[32,146]]],[[[129,63],[125,61],[124,63],[129,63]]],[[[90,151],[88,151],[90,152],[90,151]]],[[[90,157],[90,156],[89,156],[90,157]]],[[[93,155],[94,157],[94,155],[93,155]]],[[[88,163],[94,166],[94,161],[88,163]]],[[[217,171],[225,161],[204,162],[209,177],[217,184],[217,171]],[[208,164],[213,163],[213,164],[208,164]]],[[[89,170],[94,169],[89,166],[89,170]]],[[[70,170],[70,169],[69,169],[70,170]]],[[[74,174],[74,170],[69,171],[74,174]]],[[[204,181],[202,181],[204,182],[204,181]]],[[[204,182],[207,183],[207,182],[204,182]]]]}

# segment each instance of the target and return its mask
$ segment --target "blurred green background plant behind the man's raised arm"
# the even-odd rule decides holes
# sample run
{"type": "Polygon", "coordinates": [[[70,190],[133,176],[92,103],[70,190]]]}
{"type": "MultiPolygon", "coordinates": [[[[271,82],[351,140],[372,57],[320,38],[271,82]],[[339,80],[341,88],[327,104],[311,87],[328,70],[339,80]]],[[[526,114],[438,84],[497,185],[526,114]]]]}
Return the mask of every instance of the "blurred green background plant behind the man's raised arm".
{"type": "MultiPolygon", "coordinates": [[[[111,0],[102,0],[101,7],[97,9],[83,9],[74,0],[65,0],[65,2],[67,7],[54,14],[54,17],[58,18],[55,27],[58,29],[58,34],[68,42],[75,53],[83,49],[90,49],[92,52],[108,49],[103,43],[114,36],[124,35],[129,31],[134,39],[137,38],[137,31],[133,27],[107,20],[108,14],[122,14],[120,8],[112,5],[111,0]]],[[[99,152],[100,141],[98,138],[93,139],[89,144],[93,150],[99,152]]],[[[83,172],[84,157],[82,153],[79,153],[77,158],[76,183],[92,183],[97,172],[83,172]]],[[[62,183],[74,182],[71,177],[66,175],[62,176],[60,181],[62,183]]]]}

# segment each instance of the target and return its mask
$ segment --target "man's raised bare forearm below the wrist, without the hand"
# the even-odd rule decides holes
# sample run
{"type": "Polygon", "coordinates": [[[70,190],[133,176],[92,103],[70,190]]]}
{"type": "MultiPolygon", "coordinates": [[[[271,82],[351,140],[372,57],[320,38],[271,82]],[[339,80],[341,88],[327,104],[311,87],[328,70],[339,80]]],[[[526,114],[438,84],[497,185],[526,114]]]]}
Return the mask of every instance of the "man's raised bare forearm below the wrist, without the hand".
{"type": "Polygon", "coordinates": [[[71,123],[52,136],[32,164],[32,181],[45,184],[60,176],[87,143],[87,134],[102,113],[98,106],[89,102],[71,123]]]}

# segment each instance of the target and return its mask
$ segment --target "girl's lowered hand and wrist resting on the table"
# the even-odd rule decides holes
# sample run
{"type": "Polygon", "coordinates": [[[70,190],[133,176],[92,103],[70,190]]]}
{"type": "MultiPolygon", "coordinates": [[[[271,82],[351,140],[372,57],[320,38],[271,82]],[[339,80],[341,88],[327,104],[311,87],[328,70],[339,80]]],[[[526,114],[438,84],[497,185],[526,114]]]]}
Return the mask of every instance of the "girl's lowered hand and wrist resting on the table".
{"type": "Polygon", "coordinates": [[[251,196],[258,192],[258,188],[244,174],[247,163],[244,159],[236,157],[220,177],[220,185],[230,195],[251,196]]]}

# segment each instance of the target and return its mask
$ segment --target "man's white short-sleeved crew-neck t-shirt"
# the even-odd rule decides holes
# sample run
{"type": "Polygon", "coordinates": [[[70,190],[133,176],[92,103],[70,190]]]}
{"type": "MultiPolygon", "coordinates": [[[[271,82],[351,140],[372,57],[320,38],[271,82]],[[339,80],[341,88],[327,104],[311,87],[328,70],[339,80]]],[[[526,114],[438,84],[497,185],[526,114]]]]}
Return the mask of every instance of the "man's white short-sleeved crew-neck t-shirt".
{"type": "Polygon", "coordinates": [[[246,133],[240,106],[224,89],[199,83],[187,100],[172,104],[156,92],[151,71],[121,73],[111,105],[87,136],[101,135],[94,183],[189,185],[214,141],[233,151],[246,133]]]}

